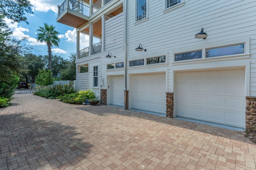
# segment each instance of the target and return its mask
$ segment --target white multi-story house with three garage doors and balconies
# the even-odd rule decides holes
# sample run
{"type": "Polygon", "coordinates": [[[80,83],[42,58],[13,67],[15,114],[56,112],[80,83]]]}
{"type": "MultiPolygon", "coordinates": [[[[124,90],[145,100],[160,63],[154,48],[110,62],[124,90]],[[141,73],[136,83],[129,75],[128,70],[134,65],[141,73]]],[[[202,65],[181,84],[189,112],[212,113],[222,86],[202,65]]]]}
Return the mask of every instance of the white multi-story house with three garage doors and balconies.
{"type": "Polygon", "coordinates": [[[256,1],[65,0],[58,9],[57,22],[77,28],[78,90],[124,109],[256,125],[256,1]]]}

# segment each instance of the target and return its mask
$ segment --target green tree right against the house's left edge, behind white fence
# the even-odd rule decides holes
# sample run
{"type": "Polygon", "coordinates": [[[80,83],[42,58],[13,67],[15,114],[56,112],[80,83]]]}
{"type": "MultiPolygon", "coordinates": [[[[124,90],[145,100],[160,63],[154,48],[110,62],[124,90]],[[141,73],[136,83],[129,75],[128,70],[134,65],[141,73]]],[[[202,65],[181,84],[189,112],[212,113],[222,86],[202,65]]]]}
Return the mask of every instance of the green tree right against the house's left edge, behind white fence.
{"type": "Polygon", "coordinates": [[[69,56],[68,66],[60,72],[61,80],[76,80],[76,53],[69,56]]]}

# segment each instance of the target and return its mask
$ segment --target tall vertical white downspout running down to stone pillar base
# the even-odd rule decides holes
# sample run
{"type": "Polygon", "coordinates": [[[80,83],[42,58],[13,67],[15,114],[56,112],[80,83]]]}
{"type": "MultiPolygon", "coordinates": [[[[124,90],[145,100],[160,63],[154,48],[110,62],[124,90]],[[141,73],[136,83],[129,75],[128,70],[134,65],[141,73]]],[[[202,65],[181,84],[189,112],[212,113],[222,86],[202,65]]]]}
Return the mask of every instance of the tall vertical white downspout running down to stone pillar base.
{"type": "Polygon", "coordinates": [[[128,0],[125,0],[125,24],[124,24],[124,109],[128,109],[127,108],[127,3],[128,3],[128,0]]]}

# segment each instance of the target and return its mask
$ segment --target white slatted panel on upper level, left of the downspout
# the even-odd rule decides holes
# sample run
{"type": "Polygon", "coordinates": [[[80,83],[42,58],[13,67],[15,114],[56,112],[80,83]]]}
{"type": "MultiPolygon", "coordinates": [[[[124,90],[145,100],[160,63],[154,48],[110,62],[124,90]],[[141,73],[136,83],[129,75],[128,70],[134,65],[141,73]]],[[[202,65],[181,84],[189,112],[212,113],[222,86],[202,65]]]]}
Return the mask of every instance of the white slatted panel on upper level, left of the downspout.
{"type": "Polygon", "coordinates": [[[123,13],[106,20],[105,51],[123,46],[123,13]]]}

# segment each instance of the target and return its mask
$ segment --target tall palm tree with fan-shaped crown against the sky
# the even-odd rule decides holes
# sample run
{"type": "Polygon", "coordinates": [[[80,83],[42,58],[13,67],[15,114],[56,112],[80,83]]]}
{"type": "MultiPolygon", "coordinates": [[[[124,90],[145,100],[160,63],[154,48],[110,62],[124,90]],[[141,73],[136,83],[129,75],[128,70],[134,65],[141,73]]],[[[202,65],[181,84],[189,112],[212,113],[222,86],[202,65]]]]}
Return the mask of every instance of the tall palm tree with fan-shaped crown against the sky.
{"type": "Polygon", "coordinates": [[[59,47],[60,39],[58,38],[58,31],[54,30],[55,26],[48,25],[44,23],[44,27],[39,27],[37,31],[40,33],[37,34],[38,42],[45,42],[48,46],[48,69],[52,71],[52,46],[55,45],[59,47]]]}

